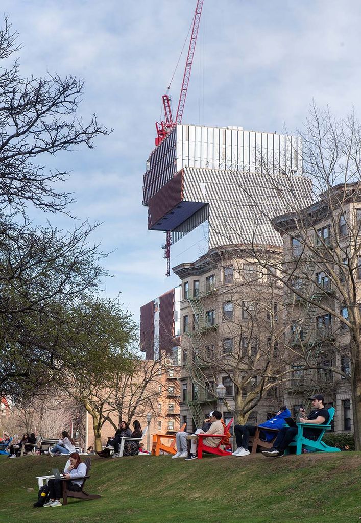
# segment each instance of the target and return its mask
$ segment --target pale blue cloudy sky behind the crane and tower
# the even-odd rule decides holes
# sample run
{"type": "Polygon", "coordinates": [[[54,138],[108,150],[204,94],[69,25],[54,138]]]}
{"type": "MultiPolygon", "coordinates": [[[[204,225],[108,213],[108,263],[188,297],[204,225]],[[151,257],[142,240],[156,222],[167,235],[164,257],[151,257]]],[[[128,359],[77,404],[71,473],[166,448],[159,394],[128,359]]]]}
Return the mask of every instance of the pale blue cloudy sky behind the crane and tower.
{"type": "MultiPolygon", "coordinates": [[[[121,292],[137,320],[141,305],[178,283],[164,276],[164,234],[147,230],[142,175],[195,6],[196,0],[2,2],[20,33],[22,74],[81,76],[81,115],[95,112],[114,129],[95,150],[60,154],[55,164],[72,169],[66,190],[77,200],[73,213],[102,222],[94,240],[112,251],[106,266],[114,275],[103,291],[121,292]]],[[[183,122],[295,131],[313,98],[337,116],[353,106],[359,115],[360,27],[359,0],[205,0],[183,122]]],[[[174,100],[185,57],[186,51],[174,100]]],[[[71,226],[63,217],[52,222],[71,226]]],[[[173,266],[203,248],[203,233],[193,232],[174,246],[173,266]]]]}

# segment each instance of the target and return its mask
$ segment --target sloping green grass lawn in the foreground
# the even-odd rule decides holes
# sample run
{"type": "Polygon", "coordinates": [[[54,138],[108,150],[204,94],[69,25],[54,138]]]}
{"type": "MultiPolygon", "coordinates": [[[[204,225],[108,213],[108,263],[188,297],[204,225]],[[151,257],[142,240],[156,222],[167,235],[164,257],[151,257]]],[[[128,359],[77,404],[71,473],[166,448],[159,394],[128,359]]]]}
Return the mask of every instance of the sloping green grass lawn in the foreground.
{"type": "Polygon", "coordinates": [[[85,490],[101,499],[32,508],[35,476],[64,464],[65,458],[1,456],[0,522],[352,523],[361,517],[361,452],[190,462],[93,457],[85,490]]]}

